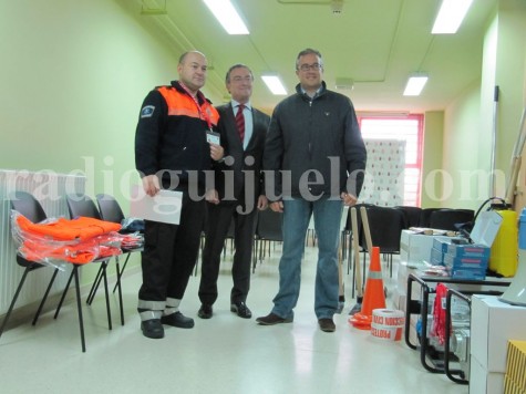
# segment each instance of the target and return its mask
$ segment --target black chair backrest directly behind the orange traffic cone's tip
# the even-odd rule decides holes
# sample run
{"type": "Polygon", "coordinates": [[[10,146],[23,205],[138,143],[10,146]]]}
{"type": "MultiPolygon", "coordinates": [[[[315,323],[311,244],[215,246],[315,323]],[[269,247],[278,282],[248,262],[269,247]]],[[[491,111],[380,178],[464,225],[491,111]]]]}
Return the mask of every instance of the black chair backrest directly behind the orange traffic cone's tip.
{"type": "Polygon", "coordinates": [[[400,236],[408,228],[405,215],[394,207],[368,206],[368,220],[372,246],[381,253],[400,252],[400,236]]]}

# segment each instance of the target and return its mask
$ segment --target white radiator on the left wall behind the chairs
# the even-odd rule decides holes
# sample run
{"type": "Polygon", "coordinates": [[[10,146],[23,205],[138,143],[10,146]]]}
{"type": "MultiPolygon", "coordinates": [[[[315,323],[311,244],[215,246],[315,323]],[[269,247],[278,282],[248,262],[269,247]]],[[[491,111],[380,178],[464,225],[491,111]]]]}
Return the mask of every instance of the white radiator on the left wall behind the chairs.
{"type": "MultiPolygon", "coordinates": [[[[23,273],[23,267],[16,261],[16,246],[11,237],[9,193],[31,193],[40,201],[48,217],[68,217],[64,196],[69,193],[84,193],[85,180],[85,177],[80,175],[0,169],[0,315],[8,311],[23,273]]],[[[52,268],[31,272],[14,308],[40,301],[52,272],[52,268]]],[[[59,272],[50,296],[64,289],[68,276],[69,270],[59,272]]]]}

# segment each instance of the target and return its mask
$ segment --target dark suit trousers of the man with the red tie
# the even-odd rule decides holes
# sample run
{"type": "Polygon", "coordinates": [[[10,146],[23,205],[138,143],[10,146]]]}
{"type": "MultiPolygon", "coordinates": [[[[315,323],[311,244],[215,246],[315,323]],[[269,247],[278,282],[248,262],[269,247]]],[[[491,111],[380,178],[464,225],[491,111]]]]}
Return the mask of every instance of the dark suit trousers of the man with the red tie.
{"type": "Polygon", "coordinates": [[[234,287],[230,292],[230,301],[245,302],[250,289],[250,262],[257,209],[248,215],[239,215],[236,211],[237,205],[214,205],[209,203],[206,205],[208,216],[199,284],[200,302],[212,305],[217,300],[217,277],[219,276],[221,251],[233,218],[236,251],[231,268],[234,287]]]}

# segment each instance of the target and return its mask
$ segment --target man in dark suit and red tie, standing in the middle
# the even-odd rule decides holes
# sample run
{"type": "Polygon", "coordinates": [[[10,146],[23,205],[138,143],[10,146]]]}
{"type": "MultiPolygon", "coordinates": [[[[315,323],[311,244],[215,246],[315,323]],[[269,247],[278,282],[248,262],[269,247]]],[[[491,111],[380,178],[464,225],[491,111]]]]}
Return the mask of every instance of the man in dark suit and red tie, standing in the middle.
{"type": "Polygon", "coordinates": [[[199,284],[202,307],[198,317],[210,319],[217,299],[217,277],[221,250],[234,221],[234,287],[230,311],[244,319],[251,312],[246,304],[250,288],[250,260],[258,209],[267,208],[262,186],[262,153],[270,117],[250,104],[254,75],[244,64],[233,65],[226,75],[231,102],[217,107],[220,144],[225,159],[216,166],[215,188],[207,195],[207,225],[199,284]]]}

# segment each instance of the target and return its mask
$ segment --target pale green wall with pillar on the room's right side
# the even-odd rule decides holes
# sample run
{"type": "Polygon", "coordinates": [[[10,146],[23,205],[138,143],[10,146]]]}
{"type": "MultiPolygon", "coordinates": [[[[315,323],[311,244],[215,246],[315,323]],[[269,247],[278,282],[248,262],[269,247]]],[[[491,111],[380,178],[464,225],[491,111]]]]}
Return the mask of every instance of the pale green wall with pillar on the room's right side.
{"type": "Polygon", "coordinates": [[[489,197],[505,197],[526,97],[525,38],[526,2],[501,0],[487,21],[482,80],[444,112],[442,206],[476,209],[489,197]]]}

